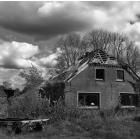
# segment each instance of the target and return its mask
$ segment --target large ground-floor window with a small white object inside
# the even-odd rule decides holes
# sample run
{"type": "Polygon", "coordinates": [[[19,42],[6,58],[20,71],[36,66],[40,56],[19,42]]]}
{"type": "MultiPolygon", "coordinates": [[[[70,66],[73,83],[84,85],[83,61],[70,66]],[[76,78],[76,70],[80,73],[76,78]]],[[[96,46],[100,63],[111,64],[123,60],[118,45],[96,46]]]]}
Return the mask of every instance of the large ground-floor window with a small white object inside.
{"type": "Polygon", "coordinates": [[[98,108],[100,104],[99,93],[78,93],[79,107],[98,108]]]}

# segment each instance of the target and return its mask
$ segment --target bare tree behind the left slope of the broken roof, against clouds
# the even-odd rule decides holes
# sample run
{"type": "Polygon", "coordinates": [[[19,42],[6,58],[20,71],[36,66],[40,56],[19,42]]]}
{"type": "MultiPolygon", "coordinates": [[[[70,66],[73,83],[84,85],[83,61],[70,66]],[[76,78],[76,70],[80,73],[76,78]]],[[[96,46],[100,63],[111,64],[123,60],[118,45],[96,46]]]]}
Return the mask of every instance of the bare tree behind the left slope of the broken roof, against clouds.
{"type": "Polygon", "coordinates": [[[61,55],[58,57],[57,65],[61,71],[70,66],[75,66],[77,59],[85,52],[81,45],[80,35],[75,33],[62,36],[57,41],[56,47],[61,49],[61,55]]]}

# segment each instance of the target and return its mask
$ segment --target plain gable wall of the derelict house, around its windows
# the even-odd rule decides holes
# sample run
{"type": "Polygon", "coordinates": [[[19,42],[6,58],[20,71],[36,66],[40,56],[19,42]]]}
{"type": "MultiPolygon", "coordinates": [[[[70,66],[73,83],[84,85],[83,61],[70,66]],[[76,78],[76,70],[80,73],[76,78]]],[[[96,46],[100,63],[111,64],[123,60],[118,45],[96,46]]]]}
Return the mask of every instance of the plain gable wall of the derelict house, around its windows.
{"type": "Polygon", "coordinates": [[[66,104],[70,106],[77,106],[77,92],[99,92],[101,104],[100,107],[108,109],[118,104],[120,92],[134,93],[133,87],[127,82],[135,82],[133,78],[124,71],[124,82],[116,81],[116,70],[122,68],[116,67],[102,67],[102,66],[89,66],[79,75],[71,80],[67,85],[65,93],[66,104]],[[105,81],[95,80],[95,69],[105,69],[105,81]]]}

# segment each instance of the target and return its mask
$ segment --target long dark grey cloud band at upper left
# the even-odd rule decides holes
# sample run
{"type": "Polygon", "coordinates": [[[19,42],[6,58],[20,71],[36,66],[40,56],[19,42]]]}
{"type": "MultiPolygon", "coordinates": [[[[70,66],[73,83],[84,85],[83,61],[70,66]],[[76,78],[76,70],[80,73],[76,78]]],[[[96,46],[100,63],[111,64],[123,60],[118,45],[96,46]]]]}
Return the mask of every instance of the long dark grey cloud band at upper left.
{"type": "Polygon", "coordinates": [[[43,21],[40,19],[39,22],[35,21],[34,23],[26,23],[23,21],[0,21],[0,25],[4,28],[28,35],[30,34],[37,38],[48,38],[71,31],[78,31],[86,27],[85,23],[83,23],[80,19],[76,19],[75,21],[67,19],[65,21],[63,18],[48,18],[43,21]]]}

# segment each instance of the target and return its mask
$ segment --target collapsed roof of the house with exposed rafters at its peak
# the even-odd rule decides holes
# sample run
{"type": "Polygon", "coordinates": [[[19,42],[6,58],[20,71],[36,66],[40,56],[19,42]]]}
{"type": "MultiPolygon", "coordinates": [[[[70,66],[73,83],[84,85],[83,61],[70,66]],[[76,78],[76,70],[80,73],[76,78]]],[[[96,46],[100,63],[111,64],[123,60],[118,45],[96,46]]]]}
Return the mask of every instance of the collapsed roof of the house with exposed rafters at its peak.
{"type": "Polygon", "coordinates": [[[108,55],[102,50],[95,50],[86,52],[85,55],[78,59],[76,66],[70,67],[63,73],[55,76],[54,80],[63,80],[64,82],[70,82],[79,73],[85,70],[89,65],[107,66],[107,67],[121,67],[125,69],[135,80],[140,80],[138,75],[133,69],[124,62],[118,61],[115,57],[108,55]]]}

